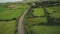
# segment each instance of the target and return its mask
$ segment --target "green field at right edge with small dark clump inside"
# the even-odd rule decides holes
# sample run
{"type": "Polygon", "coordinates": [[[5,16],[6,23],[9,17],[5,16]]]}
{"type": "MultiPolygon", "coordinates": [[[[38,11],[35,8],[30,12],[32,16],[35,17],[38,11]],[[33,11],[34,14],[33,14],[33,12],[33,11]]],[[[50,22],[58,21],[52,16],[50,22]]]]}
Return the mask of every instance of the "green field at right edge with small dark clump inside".
{"type": "Polygon", "coordinates": [[[48,10],[48,13],[51,13],[50,14],[51,17],[60,18],[60,6],[49,7],[46,9],[48,10]]]}

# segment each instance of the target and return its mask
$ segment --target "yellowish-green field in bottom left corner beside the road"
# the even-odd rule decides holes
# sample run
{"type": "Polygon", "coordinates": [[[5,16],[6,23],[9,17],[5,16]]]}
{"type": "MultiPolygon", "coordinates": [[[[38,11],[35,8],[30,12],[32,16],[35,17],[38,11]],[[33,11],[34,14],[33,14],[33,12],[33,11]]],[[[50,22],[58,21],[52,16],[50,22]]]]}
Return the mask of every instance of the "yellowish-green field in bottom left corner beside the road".
{"type": "Polygon", "coordinates": [[[0,34],[14,34],[16,30],[16,20],[0,21],[0,34]]]}

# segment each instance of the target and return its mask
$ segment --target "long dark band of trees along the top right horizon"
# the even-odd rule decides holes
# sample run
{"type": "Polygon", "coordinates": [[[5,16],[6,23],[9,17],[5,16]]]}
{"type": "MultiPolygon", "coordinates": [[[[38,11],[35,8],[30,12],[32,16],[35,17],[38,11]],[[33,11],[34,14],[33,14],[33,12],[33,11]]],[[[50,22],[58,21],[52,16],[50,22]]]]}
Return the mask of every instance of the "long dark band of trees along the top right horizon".
{"type": "Polygon", "coordinates": [[[33,8],[36,8],[36,7],[39,7],[39,6],[46,6],[46,7],[60,6],[59,1],[30,2],[30,3],[27,3],[27,4],[32,6],[33,8]],[[35,3],[35,5],[33,5],[33,3],[35,3]]]}

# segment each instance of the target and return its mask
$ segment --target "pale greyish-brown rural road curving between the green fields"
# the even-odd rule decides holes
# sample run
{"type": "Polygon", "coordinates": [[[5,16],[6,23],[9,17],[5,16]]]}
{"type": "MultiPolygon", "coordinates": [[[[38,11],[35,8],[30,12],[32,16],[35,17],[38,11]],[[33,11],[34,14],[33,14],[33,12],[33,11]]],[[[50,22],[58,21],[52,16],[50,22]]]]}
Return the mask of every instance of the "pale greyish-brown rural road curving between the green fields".
{"type": "Polygon", "coordinates": [[[24,33],[24,25],[23,25],[23,21],[24,21],[24,16],[26,15],[26,13],[28,12],[30,8],[26,9],[24,11],[24,13],[21,15],[21,17],[19,18],[19,22],[18,22],[18,34],[25,34],[24,33]]]}

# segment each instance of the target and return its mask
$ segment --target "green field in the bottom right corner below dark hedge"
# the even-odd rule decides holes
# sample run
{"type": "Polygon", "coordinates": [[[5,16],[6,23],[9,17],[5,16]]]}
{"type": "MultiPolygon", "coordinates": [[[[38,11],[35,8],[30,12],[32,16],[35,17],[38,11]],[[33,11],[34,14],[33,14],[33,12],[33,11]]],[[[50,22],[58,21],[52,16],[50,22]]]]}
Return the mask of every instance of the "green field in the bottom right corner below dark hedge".
{"type": "Polygon", "coordinates": [[[60,26],[33,26],[34,34],[60,34],[60,26]]]}

